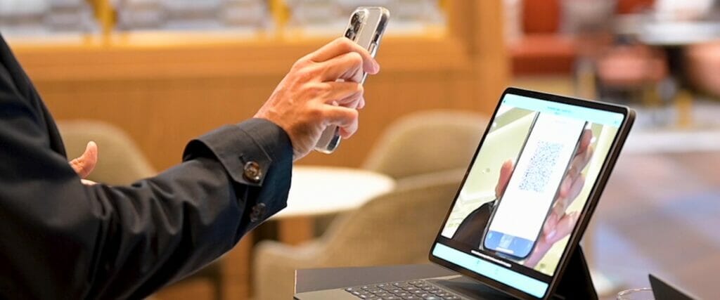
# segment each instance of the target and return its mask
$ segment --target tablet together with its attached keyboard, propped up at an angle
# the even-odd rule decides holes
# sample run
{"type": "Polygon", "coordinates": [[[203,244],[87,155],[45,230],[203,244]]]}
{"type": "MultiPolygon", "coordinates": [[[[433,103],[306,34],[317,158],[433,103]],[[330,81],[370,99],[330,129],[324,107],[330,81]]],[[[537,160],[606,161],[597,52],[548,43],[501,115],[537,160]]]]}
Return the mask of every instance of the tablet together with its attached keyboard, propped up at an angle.
{"type": "Polygon", "coordinates": [[[457,276],[295,299],[551,299],[634,116],[626,106],[507,88],[428,255],[457,276]]]}

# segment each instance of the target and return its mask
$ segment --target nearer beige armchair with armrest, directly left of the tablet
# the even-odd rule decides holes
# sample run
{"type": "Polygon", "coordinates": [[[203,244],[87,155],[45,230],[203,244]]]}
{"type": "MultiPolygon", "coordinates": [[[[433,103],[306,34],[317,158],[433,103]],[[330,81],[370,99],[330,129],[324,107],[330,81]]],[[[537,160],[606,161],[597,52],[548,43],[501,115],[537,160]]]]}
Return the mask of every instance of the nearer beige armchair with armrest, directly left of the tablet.
{"type": "Polygon", "coordinates": [[[297,269],[426,262],[463,174],[417,177],[338,217],[304,245],[261,242],[253,261],[255,299],[291,299],[297,269]]]}

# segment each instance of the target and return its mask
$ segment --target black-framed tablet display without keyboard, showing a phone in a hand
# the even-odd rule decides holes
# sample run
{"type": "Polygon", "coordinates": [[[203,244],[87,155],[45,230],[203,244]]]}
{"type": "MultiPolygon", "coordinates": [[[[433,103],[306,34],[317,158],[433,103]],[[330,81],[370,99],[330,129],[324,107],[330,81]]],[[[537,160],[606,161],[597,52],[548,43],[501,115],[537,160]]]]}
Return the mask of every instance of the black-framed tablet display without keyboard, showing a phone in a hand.
{"type": "Polygon", "coordinates": [[[504,94],[434,258],[545,296],[627,115],[621,106],[559,98],[504,94]]]}

